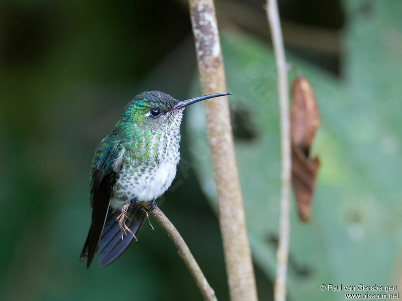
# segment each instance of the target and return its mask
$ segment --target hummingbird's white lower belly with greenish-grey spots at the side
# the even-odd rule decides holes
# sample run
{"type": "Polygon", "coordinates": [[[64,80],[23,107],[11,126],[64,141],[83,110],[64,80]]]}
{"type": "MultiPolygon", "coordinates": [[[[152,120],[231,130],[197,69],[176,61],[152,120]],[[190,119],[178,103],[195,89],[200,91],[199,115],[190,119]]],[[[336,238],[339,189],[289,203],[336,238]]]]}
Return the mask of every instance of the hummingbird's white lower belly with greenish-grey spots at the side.
{"type": "Polygon", "coordinates": [[[124,203],[137,199],[139,202],[152,202],[160,197],[172,184],[176,176],[177,162],[167,160],[145,173],[120,177],[116,183],[111,207],[121,209],[124,203]]]}

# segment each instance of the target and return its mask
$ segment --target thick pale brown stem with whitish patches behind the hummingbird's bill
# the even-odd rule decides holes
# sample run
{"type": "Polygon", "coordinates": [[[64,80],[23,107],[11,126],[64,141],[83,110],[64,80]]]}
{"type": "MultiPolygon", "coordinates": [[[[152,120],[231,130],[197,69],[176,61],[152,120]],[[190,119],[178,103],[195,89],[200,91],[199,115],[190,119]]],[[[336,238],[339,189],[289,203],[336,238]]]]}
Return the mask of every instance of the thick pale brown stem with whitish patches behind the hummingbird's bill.
{"type": "MultiPolygon", "coordinates": [[[[189,4],[203,94],[226,92],[214,1],[189,0],[189,4]]],[[[205,101],[205,115],[230,298],[257,300],[227,97],[205,101]]]]}

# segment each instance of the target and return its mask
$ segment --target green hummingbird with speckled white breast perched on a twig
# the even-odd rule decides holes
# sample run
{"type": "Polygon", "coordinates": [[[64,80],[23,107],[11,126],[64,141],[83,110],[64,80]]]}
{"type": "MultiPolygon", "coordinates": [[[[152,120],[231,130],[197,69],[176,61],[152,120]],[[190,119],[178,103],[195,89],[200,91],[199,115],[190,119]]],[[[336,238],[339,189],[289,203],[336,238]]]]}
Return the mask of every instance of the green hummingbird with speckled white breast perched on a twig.
{"type": "Polygon", "coordinates": [[[137,239],[147,211],[172,184],[180,160],[180,125],[187,105],[216,93],[178,101],[159,91],[135,96],[112,132],[100,141],[89,179],[91,224],[79,260],[89,268],[117,259],[137,239]],[[146,210],[143,209],[145,205],[146,210]],[[129,235],[128,235],[129,233],[129,235]],[[124,235],[123,235],[124,234],[124,235]]]}

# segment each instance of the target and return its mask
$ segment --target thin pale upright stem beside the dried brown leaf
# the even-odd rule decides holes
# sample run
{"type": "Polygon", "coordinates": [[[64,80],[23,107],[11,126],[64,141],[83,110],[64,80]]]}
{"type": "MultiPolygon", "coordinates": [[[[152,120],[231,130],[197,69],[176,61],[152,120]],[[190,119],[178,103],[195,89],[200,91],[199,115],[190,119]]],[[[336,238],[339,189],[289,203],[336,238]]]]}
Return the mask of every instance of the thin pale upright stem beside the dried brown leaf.
{"type": "Polygon", "coordinates": [[[290,121],[288,105],[287,64],[280,29],[278,5],[276,0],[267,0],[267,18],[271,29],[272,44],[275,52],[276,69],[278,72],[278,100],[280,115],[280,140],[282,154],[282,189],[279,216],[279,245],[276,253],[276,280],[274,300],[286,299],[286,270],[289,254],[290,233],[290,121]]]}

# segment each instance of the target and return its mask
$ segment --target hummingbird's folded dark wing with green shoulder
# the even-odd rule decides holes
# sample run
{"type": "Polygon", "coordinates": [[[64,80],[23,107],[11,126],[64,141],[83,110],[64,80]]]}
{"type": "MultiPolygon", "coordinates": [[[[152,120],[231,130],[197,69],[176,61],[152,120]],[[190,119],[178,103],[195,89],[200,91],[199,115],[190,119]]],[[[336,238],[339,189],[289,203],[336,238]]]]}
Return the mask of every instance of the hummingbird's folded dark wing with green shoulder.
{"type": "Polygon", "coordinates": [[[90,204],[92,220],[79,260],[86,258],[86,267],[91,264],[97,251],[100,236],[105,225],[118,174],[113,170],[113,162],[122,149],[121,143],[112,132],[99,143],[92,161],[90,178],[90,204]]]}

